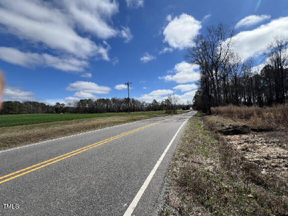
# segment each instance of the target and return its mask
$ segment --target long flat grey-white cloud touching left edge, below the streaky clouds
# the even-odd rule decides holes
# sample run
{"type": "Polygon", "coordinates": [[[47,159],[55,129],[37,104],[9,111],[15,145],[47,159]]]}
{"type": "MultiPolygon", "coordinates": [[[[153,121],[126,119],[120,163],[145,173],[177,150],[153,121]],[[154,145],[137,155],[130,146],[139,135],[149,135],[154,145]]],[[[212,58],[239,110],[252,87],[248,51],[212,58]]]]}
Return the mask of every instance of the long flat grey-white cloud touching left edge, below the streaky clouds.
{"type": "Polygon", "coordinates": [[[73,57],[57,57],[49,54],[22,52],[16,48],[0,47],[0,59],[25,67],[53,67],[64,71],[82,71],[87,66],[85,60],[73,57]]]}

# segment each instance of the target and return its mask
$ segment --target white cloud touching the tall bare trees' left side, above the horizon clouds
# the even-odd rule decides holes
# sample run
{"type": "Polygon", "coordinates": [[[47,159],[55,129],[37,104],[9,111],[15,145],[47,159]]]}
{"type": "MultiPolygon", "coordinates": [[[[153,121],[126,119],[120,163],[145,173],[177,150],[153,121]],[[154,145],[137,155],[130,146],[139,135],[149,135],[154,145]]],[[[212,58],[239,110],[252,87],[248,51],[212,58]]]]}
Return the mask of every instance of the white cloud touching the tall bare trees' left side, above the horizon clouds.
{"type": "Polygon", "coordinates": [[[173,69],[175,74],[165,75],[159,77],[165,81],[175,81],[177,83],[187,83],[197,81],[199,79],[199,67],[197,65],[191,65],[185,61],[177,63],[173,69]]]}

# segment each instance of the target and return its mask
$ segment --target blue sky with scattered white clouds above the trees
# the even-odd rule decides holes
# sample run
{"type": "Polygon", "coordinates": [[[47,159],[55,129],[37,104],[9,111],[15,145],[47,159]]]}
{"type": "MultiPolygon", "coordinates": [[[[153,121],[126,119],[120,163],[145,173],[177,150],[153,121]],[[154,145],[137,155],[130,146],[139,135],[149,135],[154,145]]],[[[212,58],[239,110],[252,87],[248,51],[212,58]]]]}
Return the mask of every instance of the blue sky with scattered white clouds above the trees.
{"type": "Polygon", "coordinates": [[[288,35],[286,0],[1,0],[0,69],[4,100],[54,104],[81,98],[181,102],[197,88],[185,48],[207,26],[236,25],[235,51],[259,54],[288,35]],[[81,3],[78,3],[81,2],[81,3]]]}

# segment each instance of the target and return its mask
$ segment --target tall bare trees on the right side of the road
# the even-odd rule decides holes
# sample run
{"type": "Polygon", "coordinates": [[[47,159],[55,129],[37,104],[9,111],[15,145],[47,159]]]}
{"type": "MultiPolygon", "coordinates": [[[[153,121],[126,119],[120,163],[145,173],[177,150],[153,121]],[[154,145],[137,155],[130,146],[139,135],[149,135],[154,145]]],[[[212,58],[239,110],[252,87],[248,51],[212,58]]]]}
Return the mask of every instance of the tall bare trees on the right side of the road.
{"type": "Polygon", "coordinates": [[[242,59],[233,50],[233,27],[218,24],[208,27],[193,39],[186,59],[199,66],[199,88],[193,108],[209,111],[227,104],[270,106],[288,97],[288,38],[274,37],[267,44],[262,69],[255,59],[242,59]]]}

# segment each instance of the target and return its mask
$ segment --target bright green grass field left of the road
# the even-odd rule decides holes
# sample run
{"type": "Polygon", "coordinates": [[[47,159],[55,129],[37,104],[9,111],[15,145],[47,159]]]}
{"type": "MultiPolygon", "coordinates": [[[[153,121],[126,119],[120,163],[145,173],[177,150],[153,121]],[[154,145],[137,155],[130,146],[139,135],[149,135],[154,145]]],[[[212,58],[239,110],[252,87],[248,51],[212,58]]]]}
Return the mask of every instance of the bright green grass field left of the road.
{"type": "MultiPolygon", "coordinates": [[[[163,114],[165,111],[131,112],[131,115],[163,114]]],[[[82,118],[127,115],[127,112],[95,113],[95,114],[11,114],[0,115],[0,127],[45,123],[53,121],[73,120],[82,118]]]]}

